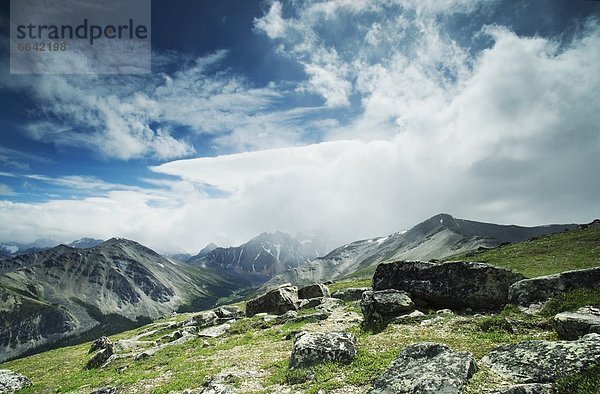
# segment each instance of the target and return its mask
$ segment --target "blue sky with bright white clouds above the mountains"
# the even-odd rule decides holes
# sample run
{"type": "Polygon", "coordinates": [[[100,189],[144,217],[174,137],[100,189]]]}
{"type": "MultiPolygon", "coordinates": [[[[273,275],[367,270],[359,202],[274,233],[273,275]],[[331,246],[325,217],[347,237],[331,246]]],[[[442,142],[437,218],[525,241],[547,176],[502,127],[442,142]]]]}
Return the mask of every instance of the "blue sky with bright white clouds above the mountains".
{"type": "Polygon", "coordinates": [[[197,253],[600,216],[600,2],[152,1],[152,73],[9,73],[0,240],[197,253]]]}

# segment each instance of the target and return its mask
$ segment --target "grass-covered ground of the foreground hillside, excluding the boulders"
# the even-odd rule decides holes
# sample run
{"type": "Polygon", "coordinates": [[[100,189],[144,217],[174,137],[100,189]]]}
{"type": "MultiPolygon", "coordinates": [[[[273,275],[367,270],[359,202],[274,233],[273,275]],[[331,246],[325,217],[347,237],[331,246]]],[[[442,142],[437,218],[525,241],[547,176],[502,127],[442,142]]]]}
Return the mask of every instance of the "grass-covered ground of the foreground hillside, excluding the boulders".
{"type": "MultiPolygon", "coordinates": [[[[537,240],[510,246],[514,253],[504,253],[507,246],[478,254],[493,256],[498,266],[511,265],[515,271],[526,272],[528,262],[552,256],[560,264],[539,265],[537,275],[551,274],[573,268],[600,266],[597,236],[598,223],[582,226],[537,240]],[[536,246],[537,245],[537,246],[536,246]],[[545,245],[542,248],[542,245],[545,245]],[[535,246],[535,247],[534,247],[535,246]],[[545,250],[545,254],[540,252],[545,250]],[[519,251],[518,259],[513,258],[519,251]],[[500,253],[502,252],[502,253],[500,253]],[[579,256],[574,258],[574,256],[579,256]],[[574,261],[569,266],[567,261],[574,261]]],[[[491,257],[489,257],[491,258],[491,257]]],[[[336,291],[348,287],[364,286],[364,280],[345,280],[330,286],[336,291]]],[[[424,316],[398,321],[383,329],[370,329],[361,324],[362,315],[355,302],[346,302],[332,308],[325,320],[314,320],[314,309],[300,310],[299,319],[285,322],[269,320],[263,316],[243,318],[231,324],[220,337],[194,337],[148,357],[124,356],[110,367],[83,370],[90,358],[90,343],[52,350],[0,364],[29,377],[34,385],[20,394],[76,392],[91,393],[102,387],[114,387],[127,393],[208,393],[213,384],[233,387],[236,393],[366,393],[398,352],[410,344],[421,341],[443,343],[454,350],[473,354],[479,370],[469,380],[463,394],[499,392],[509,384],[504,378],[481,364],[481,358],[500,344],[525,340],[556,340],[550,325],[549,313],[565,310],[560,297],[552,302],[553,311],[525,315],[508,306],[499,314],[448,314],[430,311],[424,316]],[[558,308],[558,309],[556,309],[558,308]],[[348,365],[326,363],[308,369],[290,370],[288,361],[293,347],[293,333],[303,331],[339,331],[353,333],[358,340],[358,353],[348,365]],[[52,373],[48,373],[52,365],[52,373]]],[[[571,297],[569,308],[600,302],[600,292],[591,291],[571,297]]],[[[243,306],[243,304],[241,304],[243,306]]],[[[172,334],[181,330],[181,322],[197,314],[180,314],[159,320],[151,325],[111,336],[113,342],[137,343],[153,346],[147,341],[165,343],[172,334]],[[132,342],[133,341],[133,342],[132,342]],[[135,342],[137,341],[137,342],[135,342]]],[[[135,351],[129,350],[129,351],[135,351]]],[[[125,351],[125,354],[127,351],[125,351]]],[[[565,378],[556,384],[559,394],[598,393],[600,382],[598,368],[582,376],[565,378]],[[574,389],[580,387],[580,391],[574,389]],[[595,389],[594,389],[595,387],[595,389]]]]}

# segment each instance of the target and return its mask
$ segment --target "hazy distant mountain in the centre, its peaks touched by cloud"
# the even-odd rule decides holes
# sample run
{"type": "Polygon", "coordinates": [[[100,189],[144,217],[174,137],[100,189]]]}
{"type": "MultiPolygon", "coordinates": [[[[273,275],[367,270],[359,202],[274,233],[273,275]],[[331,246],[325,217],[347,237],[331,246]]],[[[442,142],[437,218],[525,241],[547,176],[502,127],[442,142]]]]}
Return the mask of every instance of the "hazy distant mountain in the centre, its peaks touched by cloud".
{"type": "Polygon", "coordinates": [[[262,233],[236,247],[215,247],[210,251],[207,248],[212,246],[202,249],[187,262],[235,272],[258,283],[286,269],[300,267],[327,250],[315,237],[292,237],[282,232],[262,233]]]}

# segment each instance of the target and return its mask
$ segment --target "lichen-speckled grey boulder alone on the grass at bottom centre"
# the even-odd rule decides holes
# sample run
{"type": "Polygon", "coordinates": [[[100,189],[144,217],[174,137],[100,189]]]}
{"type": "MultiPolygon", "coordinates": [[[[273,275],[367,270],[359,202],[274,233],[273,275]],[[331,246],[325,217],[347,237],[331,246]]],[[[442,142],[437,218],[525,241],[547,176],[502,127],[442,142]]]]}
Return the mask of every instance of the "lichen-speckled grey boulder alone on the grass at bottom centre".
{"type": "Polygon", "coordinates": [[[301,332],[296,336],[290,369],[329,361],[349,364],[356,356],[356,338],[348,332],[301,332]]]}

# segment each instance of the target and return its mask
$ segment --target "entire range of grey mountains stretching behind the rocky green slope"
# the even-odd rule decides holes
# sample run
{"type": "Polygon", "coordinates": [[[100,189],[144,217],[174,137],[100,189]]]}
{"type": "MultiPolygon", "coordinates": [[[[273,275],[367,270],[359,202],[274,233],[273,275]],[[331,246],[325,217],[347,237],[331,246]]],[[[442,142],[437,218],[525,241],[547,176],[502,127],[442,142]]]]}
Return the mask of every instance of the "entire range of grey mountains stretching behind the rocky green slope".
{"type": "Polygon", "coordinates": [[[119,332],[175,311],[206,309],[258,286],[263,291],[286,282],[367,277],[386,260],[445,259],[572,227],[503,226],[440,214],[410,230],[329,253],[316,237],[275,232],[237,247],[209,244],[185,263],[119,238],[17,251],[0,259],[0,361],[119,332]]]}

